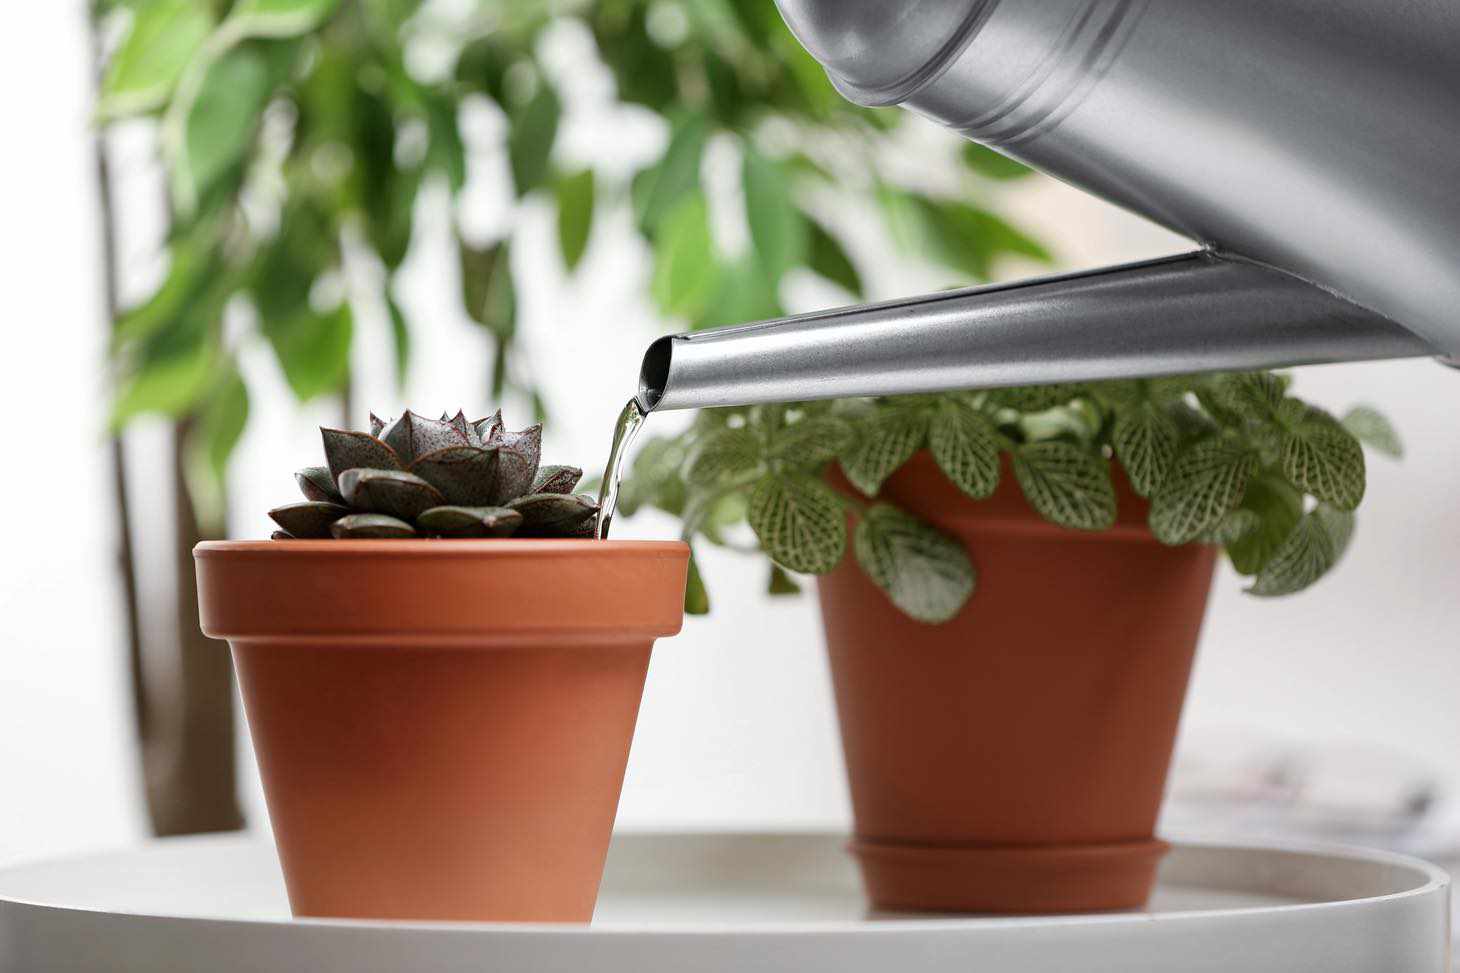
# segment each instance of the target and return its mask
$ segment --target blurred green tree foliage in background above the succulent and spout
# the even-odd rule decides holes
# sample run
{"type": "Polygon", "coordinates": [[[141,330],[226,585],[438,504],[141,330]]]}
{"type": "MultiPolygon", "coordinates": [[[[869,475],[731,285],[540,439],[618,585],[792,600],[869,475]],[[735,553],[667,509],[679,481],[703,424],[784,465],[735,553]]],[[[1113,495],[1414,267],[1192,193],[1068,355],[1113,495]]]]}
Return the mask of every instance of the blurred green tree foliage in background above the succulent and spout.
{"type": "MultiPolygon", "coordinates": [[[[983,279],[1010,253],[1047,259],[999,216],[969,202],[899,187],[877,156],[901,114],[844,101],[783,25],[772,0],[111,0],[120,41],[98,107],[104,124],[158,124],[169,197],[169,269],[117,321],[112,413],[199,416],[196,453],[222,473],[248,415],[237,342],[269,343],[301,400],[349,377],[362,301],[391,323],[399,374],[410,365],[410,321],[396,297],[412,247],[418,196],[435,183],[454,207],[472,169],[463,104],[485,99],[505,120],[515,196],[558,209],[562,260],[574,270],[596,216],[631,206],[653,253],[651,297],[670,318],[711,326],[777,316],[781,279],[806,267],[861,297],[861,278],[834,229],[809,215],[816,191],[876,200],[891,235],[959,279],[983,279]],[[463,15],[461,9],[466,9],[463,15]],[[661,115],[660,158],[628,184],[564,169],[564,102],[542,57],[562,19],[591,35],[620,102],[661,115]],[[450,53],[448,70],[413,69],[413,48],[450,53]],[[791,150],[774,148],[780,126],[791,150]],[[743,158],[750,248],[721,253],[701,180],[707,145],[730,139],[743,158]],[[816,153],[813,146],[831,146],[816,153]],[[346,253],[378,262],[377,294],[339,283],[346,253]],[[333,282],[333,285],[331,285],[333,282]],[[223,336],[226,308],[253,308],[254,330],[223,336]]],[[[969,183],[1023,167],[978,146],[961,155],[969,183]]],[[[460,299],[495,349],[491,393],[539,403],[514,356],[515,224],[489,245],[457,240],[460,299]]]]}

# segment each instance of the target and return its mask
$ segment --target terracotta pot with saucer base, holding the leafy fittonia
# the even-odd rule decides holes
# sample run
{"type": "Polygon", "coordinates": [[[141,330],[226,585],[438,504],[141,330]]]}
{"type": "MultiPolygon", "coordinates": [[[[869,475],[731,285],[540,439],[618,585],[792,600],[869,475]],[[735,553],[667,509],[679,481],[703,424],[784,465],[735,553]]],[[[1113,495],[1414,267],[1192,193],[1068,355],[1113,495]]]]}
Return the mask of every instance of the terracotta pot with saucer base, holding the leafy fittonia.
{"type": "Polygon", "coordinates": [[[883,497],[965,543],[969,603],[926,625],[850,557],[821,579],[875,906],[1088,912],[1150,894],[1215,549],[1159,543],[1115,476],[1118,522],[1088,533],[1040,519],[1007,463],[971,501],[920,453],[883,497]]]}

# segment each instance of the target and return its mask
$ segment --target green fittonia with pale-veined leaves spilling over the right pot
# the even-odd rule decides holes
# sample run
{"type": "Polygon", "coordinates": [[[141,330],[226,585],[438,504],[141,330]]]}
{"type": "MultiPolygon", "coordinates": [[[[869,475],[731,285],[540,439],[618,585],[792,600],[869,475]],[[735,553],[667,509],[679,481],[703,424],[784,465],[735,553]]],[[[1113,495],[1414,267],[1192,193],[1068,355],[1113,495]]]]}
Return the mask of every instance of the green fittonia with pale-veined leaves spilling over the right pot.
{"type": "MultiPolygon", "coordinates": [[[[658,507],[682,519],[686,539],[711,543],[733,543],[727,530],[748,520],[772,560],[772,593],[797,590],[787,570],[837,567],[850,539],[902,611],[939,622],[974,593],[977,551],[877,500],[888,476],[926,447],[980,500],[1009,454],[1045,520],[1102,530],[1115,520],[1114,460],[1150,500],[1158,539],[1219,543],[1253,579],[1250,593],[1288,595],[1348,545],[1364,497],[1361,441],[1402,450],[1372,409],[1340,421],[1289,396],[1288,381],[1241,373],[707,411],[686,432],[644,446],[619,508],[658,507]],[[831,463],[866,500],[825,482],[831,463]]],[[[694,565],[686,609],[708,611],[694,565]]]]}

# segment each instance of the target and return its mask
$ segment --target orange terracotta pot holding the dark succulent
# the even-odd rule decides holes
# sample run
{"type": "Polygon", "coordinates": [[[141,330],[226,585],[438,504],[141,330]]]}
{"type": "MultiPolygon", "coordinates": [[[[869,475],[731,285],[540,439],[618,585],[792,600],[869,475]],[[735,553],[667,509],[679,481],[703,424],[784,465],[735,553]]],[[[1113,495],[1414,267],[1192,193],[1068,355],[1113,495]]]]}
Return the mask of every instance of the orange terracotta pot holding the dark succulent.
{"type": "Polygon", "coordinates": [[[296,916],[587,922],[689,551],[200,543],[296,916]]]}

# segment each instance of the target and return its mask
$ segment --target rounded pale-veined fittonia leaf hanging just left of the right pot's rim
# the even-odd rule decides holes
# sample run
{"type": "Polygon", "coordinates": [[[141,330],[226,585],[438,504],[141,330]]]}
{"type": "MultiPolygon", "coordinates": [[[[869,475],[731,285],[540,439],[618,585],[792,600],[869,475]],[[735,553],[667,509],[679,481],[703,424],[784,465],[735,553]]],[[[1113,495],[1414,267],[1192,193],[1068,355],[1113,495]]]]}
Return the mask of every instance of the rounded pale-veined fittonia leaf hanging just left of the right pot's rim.
{"type": "Polygon", "coordinates": [[[831,487],[806,475],[766,476],[746,511],[771,560],[802,574],[825,574],[847,552],[847,514],[831,487]]]}

